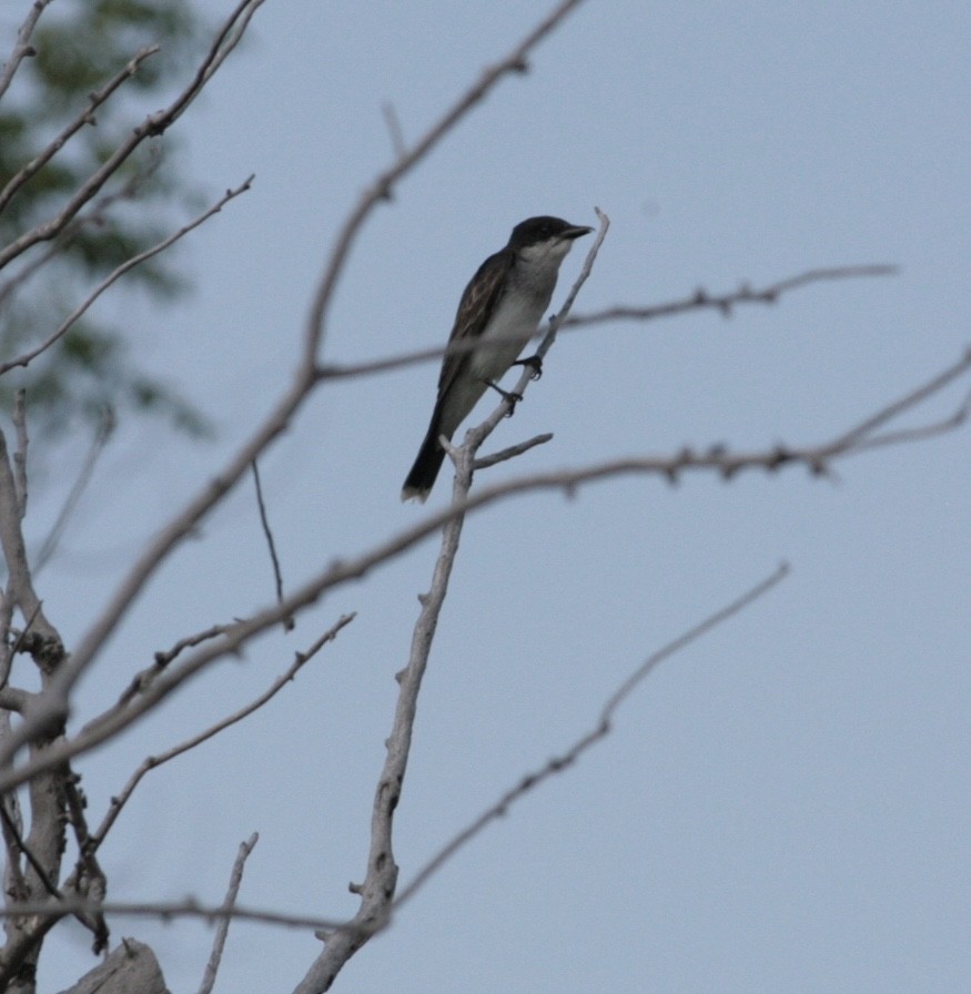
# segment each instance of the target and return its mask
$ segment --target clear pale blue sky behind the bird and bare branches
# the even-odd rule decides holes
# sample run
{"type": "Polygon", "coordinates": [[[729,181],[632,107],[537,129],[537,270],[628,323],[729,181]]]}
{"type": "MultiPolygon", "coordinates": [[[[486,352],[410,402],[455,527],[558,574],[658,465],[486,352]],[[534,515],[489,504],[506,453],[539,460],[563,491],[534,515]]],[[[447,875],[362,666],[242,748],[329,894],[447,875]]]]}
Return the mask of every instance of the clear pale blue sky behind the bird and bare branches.
{"type": "MultiPolygon", "coordinates": [[[[206,0],[213,17],[227,3],[206,0]]],[[[269,0],[180,125],[213,196],[253,191],[181,256],[198,291],[105,301],[144,364],[220,436],[123,426],[60,557],[52,620],[77,638],[127,560],[267,412],[292,369],[340,221],[546,2],[269,0]]],[[[553,444],[488,480],[685,444],[828,438],[953,362],[971,338],[971,8],[589,0],[365,227],[324,357],[435,345],[482,258],[536,213],[613,227],[577,308],[892,262],[773,308],[563,336],[499,448],[553,444]]],[[[579,253],[564,265],[564,284],[579,253]]],[[[295,586],[415,521],[398,504],[434,364],[322,390],[263,462],[295,586]]],[[[927,416],[948,413],[954,393],[927,416]]],[[[485,413],[487,408],[483,407],[485,413]]],[[[360,953],[344,992],[953,992],[971,987],[969,436],[805,471],[624,479],[469,521],[397,814],[402,881],[589,727],[653,649],[770,572],[769,597],[666,663],[576,769],[465,849],[360,953]]],[[[483,476],[485,479],[485,475],[483,476]]],[[[447,496],[439,484],[432,504],[447,496]]],[[[32,508],[43,534],[57,501],[32,508]],[[48,517],[45,517],[45,515],[48,517]]],[[[239,707],[340,613],[357,620],[246,724],[144,781],[103,850],[111,895],[351,914],[426,542],[199,679],[80,768],[93,812],[130,771],[239,707]],[[151,844],[146,850],[146,839],[151,844]]],[[[272,597],[249,487],[175,556],[83,687],[83,722],[152,652],[272,597]]],[[[115,922],[194,990],[198,922],[115,922]]],[[[83,968],[58,940],[47,990],[83,968]]],[[[289,991],[311,936],[235,925],[218,990],[289,991]]]]}

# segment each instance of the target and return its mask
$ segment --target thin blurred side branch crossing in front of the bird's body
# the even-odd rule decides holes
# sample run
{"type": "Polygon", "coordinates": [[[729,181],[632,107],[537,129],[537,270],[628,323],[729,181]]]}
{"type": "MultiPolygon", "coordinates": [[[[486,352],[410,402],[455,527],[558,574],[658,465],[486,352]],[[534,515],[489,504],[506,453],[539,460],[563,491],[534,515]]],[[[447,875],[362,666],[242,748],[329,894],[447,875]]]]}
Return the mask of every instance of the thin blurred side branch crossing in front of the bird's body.
{"type": "MultiPolygon", "coordinates": [[[[894,266],[884,265],[861,265],[861,266],[836,266],[825,270],[809,270],[797,276],[789,276],[780,280],[778,283],[771,283],[763,287],[741,286],[731,293],[711,294],[706,290],[698,290],[690,296],[680,297],[676,301],[669,301],[664,304],[653,304],[648,306],[618,306],[608,307],[604,311],[594,311],[589,314],[574,314],[560,324],[560,329],[574,329],[586,327],[588,325],[601,324],[608,321],[655,321],[660,317],[669,317],[676,314],[686,314],[691,311],[716,310],[722,314],[730,314],[739,304],[773,304],[785,293],[811,283],[831,282],[833,280],[861,278],[867,276],[886,276],[896,273],[894,266]]],[[[539,333],[537,333],[538,336],[539,333]]],[[[494,339],[494,344],[504,344],[502,338],[494,339]]],[[[482,348],[482,343],[466,342],[459,339],[449,343],[446,346],[436,348],[418,348],[409,352],[403,352],[398,355],[388,356],[381,359],[368,359],[364,363],[348,363],[346,365],[337,365],[327,363],[317,367],[317,377],[323,381],[327,379],[351,379],[355,376],[371,376],[374,373],[388,373],[394,369],[401,369],[406,366],[416,366],[419,363],[426,363],[432,359],[441,359],[446,353],[448,355],[462,355],[473,349],[482,348]]]]}

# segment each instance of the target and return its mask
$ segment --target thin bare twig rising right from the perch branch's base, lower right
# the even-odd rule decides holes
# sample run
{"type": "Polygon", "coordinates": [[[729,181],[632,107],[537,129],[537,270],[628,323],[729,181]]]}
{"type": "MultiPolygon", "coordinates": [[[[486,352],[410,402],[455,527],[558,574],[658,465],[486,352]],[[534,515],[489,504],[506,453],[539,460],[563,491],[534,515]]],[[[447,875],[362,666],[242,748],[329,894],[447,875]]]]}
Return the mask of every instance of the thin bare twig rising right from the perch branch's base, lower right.
{"type": "Polygon", "coordinates": [[[413,897],[415,892],[442,868],[443,863],[451,860],[459,849],[465,846],[466,843],[482,832],[483,829],[496,819],[506,814],[512,804],[537,788],[545,780],[548,780],[550,777],[555,777],[557,773],[562,773],[564,770],[572,767],[588,749],[605,739],[610,733],[611,721],[617,709],[661,662],[666,659],[670,659],[671,656],[677,655],[691,642],[697,641],[714,628],[722,625],[729,618],[744,611],[749,605],[768,594],[768,591],[777,584],[781,582],[788,572],[789,567],[786,564],[782,564],[773,574],[771,574],[771,576],[760,580],[750,590],[747,590],[725,607],[719,608],[717,611],[679,635],[676,639],[648,656],[647,659],[609,697],[607,703],[604,704],[594,728],[584,732],[584,734],[577,738],[564,752],[547,760],[547,762],[538,770],[527,773],[516,787],[506,791],[498,801],[483,811],[478,818],[455,835],[454,839],[443,845],[442,849],[438,850],[438,852],[435,853],[421,870],[418,870],[408,885],[402,889],[394,901],[394,910],[397,911],[397,909],[399,909],[406,901],[413,897]]]}

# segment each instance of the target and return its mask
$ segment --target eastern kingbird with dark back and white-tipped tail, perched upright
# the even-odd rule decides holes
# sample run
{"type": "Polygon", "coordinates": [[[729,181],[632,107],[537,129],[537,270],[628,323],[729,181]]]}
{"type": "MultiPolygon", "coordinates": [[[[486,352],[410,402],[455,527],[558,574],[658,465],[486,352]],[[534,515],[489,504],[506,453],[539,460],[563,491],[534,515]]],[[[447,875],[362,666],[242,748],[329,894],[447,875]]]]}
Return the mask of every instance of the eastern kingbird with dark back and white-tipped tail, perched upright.
{"type": "Polygon", "coordinates": [[[536,334],[559,264],[574,239],[591,231],[559,217],[529,217],[513,229],[505,248],[478,267],[458,302],[448,344],[478,339],[495,345],[445,356],[432,423],[405,480],[402,500],[417,497],[424,503],[445,458],[438,436],[452,438],[486,387],[495,385],[536,334]]]}

